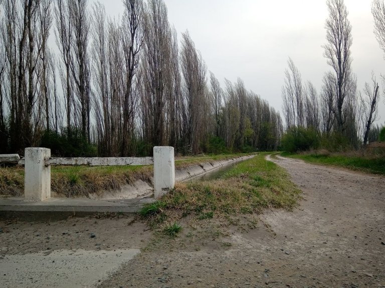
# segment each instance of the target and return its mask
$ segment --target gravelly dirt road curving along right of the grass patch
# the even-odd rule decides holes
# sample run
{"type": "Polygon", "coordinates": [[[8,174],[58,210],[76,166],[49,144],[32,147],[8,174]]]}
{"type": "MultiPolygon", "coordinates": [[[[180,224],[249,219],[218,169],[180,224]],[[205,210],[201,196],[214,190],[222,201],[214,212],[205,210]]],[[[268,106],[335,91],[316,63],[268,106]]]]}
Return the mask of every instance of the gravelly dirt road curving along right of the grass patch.
{"type": "Polygon", "coordinates": [[[248,233],[229,227],[228,238],[198,240],[198,251],[175,240],[101,286],[385,287],[385,178],[274,161],[304,192],[293,212],[268,211],[248,233]]]}

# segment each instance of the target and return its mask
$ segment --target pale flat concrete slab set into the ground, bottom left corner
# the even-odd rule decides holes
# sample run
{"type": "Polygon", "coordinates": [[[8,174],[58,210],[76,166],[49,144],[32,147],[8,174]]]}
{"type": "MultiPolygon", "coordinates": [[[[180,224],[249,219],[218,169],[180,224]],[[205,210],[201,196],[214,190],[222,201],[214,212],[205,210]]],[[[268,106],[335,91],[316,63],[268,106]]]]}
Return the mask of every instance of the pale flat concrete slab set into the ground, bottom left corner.
{"type": "Polygon", "coordinates": [[[56,250],[25,255],[3,255],[2,287],[96,287],[139,249],[115,251],[56,250]]]}

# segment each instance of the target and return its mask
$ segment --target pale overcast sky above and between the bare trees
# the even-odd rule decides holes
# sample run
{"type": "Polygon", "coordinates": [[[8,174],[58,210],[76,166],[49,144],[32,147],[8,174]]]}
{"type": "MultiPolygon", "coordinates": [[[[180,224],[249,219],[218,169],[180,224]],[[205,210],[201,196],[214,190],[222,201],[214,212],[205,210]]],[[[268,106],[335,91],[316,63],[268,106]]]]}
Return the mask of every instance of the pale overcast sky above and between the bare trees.
{"type": "MultiPolygon", "coordinates": [[[[323,57],[326,0],[164,0],[179,35],[188,29],[208,69],[223,83],[241,77],[247,89],[281,110],[281,87],[290,56],[304,81],[321,89],[330,68],[323,57]]],[[[93,0],[90,0],[92,3],[93,0]]],[[[121,16],[121,0],[101,0],[111,16],[121,16]]],[[[358,89],[385,74],[383,53],[373,34],[371,0],[345,0],[352,25],[352,69],[358,89]]],[[[380,119],[385,122],[383,97],[380,119]]]]}

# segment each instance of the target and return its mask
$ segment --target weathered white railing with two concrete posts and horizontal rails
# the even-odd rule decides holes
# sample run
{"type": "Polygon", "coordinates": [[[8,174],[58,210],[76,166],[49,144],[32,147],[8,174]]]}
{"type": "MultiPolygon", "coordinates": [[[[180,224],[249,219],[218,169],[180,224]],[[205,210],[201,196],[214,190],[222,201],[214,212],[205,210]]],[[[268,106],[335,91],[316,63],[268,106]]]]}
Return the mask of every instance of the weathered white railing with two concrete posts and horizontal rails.
{"type": "Polygon", "coordinates": [[[51,165],[154,165],[154,196],[160,198],[175,185],[174,148],[155,146],[153,157],[51,157],[48,148],[29,147],[25,157],[18,154],[0,155],[1,162],[18,162],[24,165],[24,199],[43,201],[51,198],[51,165]]]}

